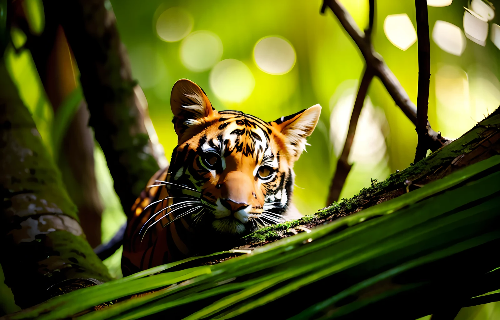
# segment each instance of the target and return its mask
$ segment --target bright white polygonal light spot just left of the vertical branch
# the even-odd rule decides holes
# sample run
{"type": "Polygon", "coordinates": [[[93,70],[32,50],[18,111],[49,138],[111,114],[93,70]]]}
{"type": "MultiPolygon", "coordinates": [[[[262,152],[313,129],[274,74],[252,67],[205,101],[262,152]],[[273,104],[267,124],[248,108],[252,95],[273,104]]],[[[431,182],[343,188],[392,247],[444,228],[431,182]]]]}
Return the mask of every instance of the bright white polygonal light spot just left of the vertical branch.
{"type": "Polygon", "coordinates": [[[415,28],[406,13],[387,15],[383,21],[383,31],[390,43],[403,51],[416,41],[415,28]]]}

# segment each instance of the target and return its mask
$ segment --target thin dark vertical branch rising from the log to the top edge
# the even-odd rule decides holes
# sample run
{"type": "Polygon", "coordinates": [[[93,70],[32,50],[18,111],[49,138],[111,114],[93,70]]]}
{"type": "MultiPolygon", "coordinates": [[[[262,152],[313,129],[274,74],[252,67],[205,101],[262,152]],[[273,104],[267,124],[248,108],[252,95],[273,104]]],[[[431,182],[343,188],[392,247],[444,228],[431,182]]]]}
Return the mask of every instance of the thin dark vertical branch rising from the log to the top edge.
{"type": "Polygon", "coordinates": [[[418,92],[416,98],[416,126],[418,136],[415,159],[423,159],[427,151],[427,109],[429,103],[430,44],[427,2],[415,0],[416,34],[418,39],[418,92]]]}

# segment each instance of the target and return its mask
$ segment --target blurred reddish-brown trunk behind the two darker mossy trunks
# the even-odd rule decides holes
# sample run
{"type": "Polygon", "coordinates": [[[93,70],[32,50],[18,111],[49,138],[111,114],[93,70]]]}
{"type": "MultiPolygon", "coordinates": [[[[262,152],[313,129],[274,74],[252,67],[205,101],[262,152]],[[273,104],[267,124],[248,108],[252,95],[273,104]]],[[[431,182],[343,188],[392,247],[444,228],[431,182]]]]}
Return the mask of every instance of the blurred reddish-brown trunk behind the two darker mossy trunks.
{"type": "MultiPolygon", "coordinates": [[[[17,3],[21,6],[21,3],[17,3]]],[[[83,231],[92,247],[101,242],[102,203],[97,190],[94,168],[94,138],[88,126],[89,113],[84,99],[71,101],[68,97],[78,89],[74,57],[62,27],[54,12],[45,11],[45,28],[40,35],[31,34],[27,21],[17,16],[15,23],[28,36],[26,48],[31,51],[45,93],[54,111],[52,131],[53,156],[62,173],[62,180],[71,200],[78,208],[83,231]],[[75,109],[69,112],[67,109],[75,109]],[[59,119],[58,113],[69,118],[59,119]]]]}

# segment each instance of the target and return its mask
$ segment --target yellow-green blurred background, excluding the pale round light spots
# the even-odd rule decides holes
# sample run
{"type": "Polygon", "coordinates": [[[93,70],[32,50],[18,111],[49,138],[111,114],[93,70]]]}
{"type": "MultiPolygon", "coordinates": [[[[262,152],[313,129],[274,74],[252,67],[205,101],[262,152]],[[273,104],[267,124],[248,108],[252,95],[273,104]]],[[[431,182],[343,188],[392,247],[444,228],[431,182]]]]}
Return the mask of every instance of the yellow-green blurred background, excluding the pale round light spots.
{"type": "MultiPolygon", "coordinates": [[[[28,2],[35,3],[33,10],[36,10],[38,2],[35,0],[28,2]]],[[[353,15],[359,27],[361,29],[366,27],[368,1],[342,0],[342,3],[353,15]]],[[[164,146],[168,159],[176,144],[175,132],[170,122],[172,113],[169,107],[169,94],[173,83],[179,78],[189,78],[199,84],[216,109],[239,109],[264,120],[273,120],[319,103],[323,109],[320,122],[308,139],[311,145],[307,146],[307,152],[304,152],[295,164],[297,187],[294,201],[303,214],[312,213],[326,205],[327,191],[336,163],[328,132],[330,108],[335,100],[332,96],[338,88],[345,86],[345,83],[354,83],[344,81],[359,79],[364,62],[356,46],[331,11],[327,9],[324,15],[319,13],[321,1],[112,0],[107,4],[112,6],[121,40],[130,53],[133,76],[139,84],[151,83],[151,79],[157,82],[152,86],[143,86],[143,91],[149,104],[149,114],[159,142],[164,146]],[[220,37],[223,45],[222,59],[238,59],[249,67],[255,78],[255,87],[248,99],[241,103],[220,101],[210,88],[209,70],[193,72],[182,65],[179,57],[180,41],[164,42],[156,35],[154,16],[160,6],[161,8],[180,6],[185,9],[193,17],[192,31],[209,30],[220,37]],[[267,74],[254,63],[252,49],[260,38],[268,35],[282,36],[293,45],[296,63],[288,73],[267,74]]],[[[493,4],[500,6],[500,3],[494,3],[494,1],[493,4]]],[[[447,7],[428,7],[429,31],[432,31],[436,20],[451,22],[463,30],[463,6],[466,5],[466,0],[454,0],[447,7]]],[[[413,1],[376,1],[372,39],[376,51],[383,56],[410,99],[416,102],[417,44],[415,42],[407,50],[402,51],[392,45],[383,32],[384,18],[388,14],[396,13],[407,13],[415,25],[413,1]]],[[[36,14],[33,16],[33,19],[36,19],[36,14]]],[[[498,18],[495,17],[492,22],[498,23],[498,18]]],[[[36,23],[40,24],[39,21],[36,23]]],[[[475,78],[480,77],[481,72],[485,74],[484,78],[496,90],[493,90],[494,92],[489,90],[488,92],[492,92],[490,95],[483,92],[488,88],[474,85],[474,78],[468,78],[470,99],[474,96],[486,96],[483,99],[484,103],[481,102],[480,106],[475,106],[477,112],[486,114],[493,111],[500,103],[500,97],[496,93],[500,92],[500,84],[498,84],[500,50],[489,39],[485,47],[468,39],[466,42],[463,54],[455,56],[444,52],[432,39],[430,40],[431,79],[428,118],[434,129],[441,130],[444,135],[447,133],[446,130],[451,131],[451,137],[457,137],[457,134],[465,132],[474,121],[480,118],[465,115],[460,117],[462,120],[456,120],[453,116],[437,116],[436,109],[440,106],[436,102],[434,75],[440,65],[448,64],[461,68],[466,74],[465,78],[468,78],[469,74],[475,78]]],[[[9,48],[5,59],[23,101],[31,110],[47,147],[51,148],[50,127],[53,114],[29,52],[23,50],[15,53],[12,48],[9,48]]],[[[414,156],[416,145],[414,126],[395,106],[378,79],[375,78],[372,81],[368,96],[373,105],[384,110],[389,125],[389,133],[386,137],[387,166],[368,172],[363,172],[360,166],[357,167],[348,177],[341,197],[350,197],[360,188],[369,186],[370,177],[382,180],[390,172],[407,167],[414,156]]],[[[456,112],[461,111],[457,108],[456,112]]],[[[449,109],[449,106],[448,112],[453,113],[453,109],[449,109]]],[[[98,146],[96,146],[95,157],[99,191],[105,203],[103,240],[107,240],[125,219],[119,201],[112,190],[112,180],[98,146]]],[[[118,260],[119,254],[115,254],[109,261],[106,261],[108,265],[113,266],[113,272],[117,275],[119,275],[116,266],[118,260]]],[[[487,314],[484,313],[485,310],[483,308],[477,311],[479,313],[476,318],[485,318],[484,314],[487,314]]],[[[488,310],[488,312],[498,314],[498,307],[496,311],[488,310]]],[[[465,318],[474,318],[474,316],[470,315],[465,318]]]]}

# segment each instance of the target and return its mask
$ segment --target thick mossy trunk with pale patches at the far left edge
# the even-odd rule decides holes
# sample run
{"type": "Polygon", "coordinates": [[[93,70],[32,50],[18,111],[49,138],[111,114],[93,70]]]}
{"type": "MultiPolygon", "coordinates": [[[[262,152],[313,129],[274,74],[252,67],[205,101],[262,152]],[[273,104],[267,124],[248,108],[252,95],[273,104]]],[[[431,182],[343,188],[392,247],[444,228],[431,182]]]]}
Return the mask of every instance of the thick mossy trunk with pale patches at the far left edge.
{"type": "Polygon", "coordinates": [[[15,303],[25,308],[111,277],[3,61],[0,86],[0,263],[15,303]],[[83,279],[68,281],[75,278],[83,279]]]}

